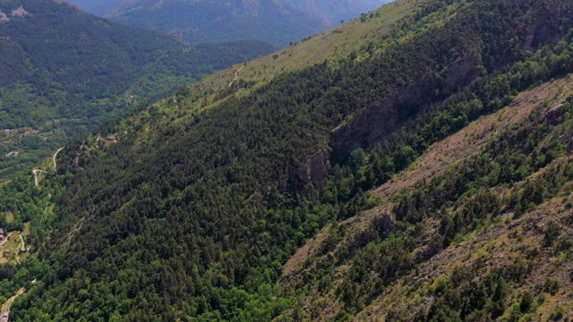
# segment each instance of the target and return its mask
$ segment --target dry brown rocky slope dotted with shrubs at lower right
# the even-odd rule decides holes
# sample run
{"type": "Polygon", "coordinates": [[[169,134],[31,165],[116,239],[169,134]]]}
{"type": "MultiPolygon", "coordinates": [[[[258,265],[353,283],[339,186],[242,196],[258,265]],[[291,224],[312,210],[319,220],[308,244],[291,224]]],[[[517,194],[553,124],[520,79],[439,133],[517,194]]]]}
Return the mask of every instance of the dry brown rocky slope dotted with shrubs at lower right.
{"type": "MultiPolygon", "coordinates": [[[[526,163],[534,162],[535,165],[526,165],[531,168],[526,174],[521,174],[525,176],[517,177],[517,182],[510,185],[503,182],[512,179],[496,175],[510,175],[507,169],[515,165],[511,165],[511,162],[498,165],[494,160],[496,155],[502,159],[503,153],[505,157],[511,154],[508,151],[500,153],[499,148],[508,147],[509,142],[516,144],[517,149],[530,144],[521,134],[525,132],[530,133],[530,138],[535,136],[539,142],[540,146],[530,151],[534,157],[537,156],[537,149],[544,150],[545,156],[553,155],[550,147],[554,146],[556,138],[569,135],[572,124],[569,117],[556,117],[559,108],[554,106],[568,102],[572,94],[573,83],[569,79],[543,84],[520,94],[500,112],[470,123],[464,130],[436,143],[418,158],[415,168],[404,171],[396,181],[388,182],[374,191],[382,206],[328,226],[298,250],[286,263],[281,284],[290,287],[299,284],[298,287],[301,287],[300,284],[304,284],[303,281],[312,275],[313,284],[316,283],[318,287],[302,303],[307,317],[313,320],[345,317],[345,312],[350,311],[351,307],[359,308],[355,311],[360,312],[355,320],[430,319],[437,314],[437,308],[460,308],[456,307],[458,304],[454,300],[444,302],[440,299],[440,292],[444,291],[438,290],[440,286],[436,285],[459,278],[461,272],[472,276],[465,277],[468,282],[472,278],[483,278],[487,272],[497,272],[507,280],[504,282],[509,283],[504,291],[507,294],[501,299],[498,316],[506,310],[509,315],[513,304],[510,299],[518,303],[520,293],[535,294],[540,288],[543,290],[543,283],[549,278],[559,280],[560,287],[567,289],[571,267],[564,258],[571,256],[572,249],[569,246],[555,246],[554,250],[548,250],[552,246],[544,242],[544,236],[547,236],[551,225],[559,227],[559,233],[552,237],[554,241],[567,243],[573,236],[573,232],[565,228],[571,215],[567,206],[571,174],[569,170],[564,170],[569,167],[570,156],[554,161],[543,157],[541,164],[536,163],[540,159],[522,158],[526,163]],[[542,123],[543,135],[540,136],[540,131],[536,132],[531,126],[542,123]],[[551,131],[547,131],[548,125],[551,131]],[[517,133],[516,129],[519,129],[517,133]],[[541,167],[536,173],[535,166],[541,167]],[[560,178],[557,182],[546,181],[555,176],[560,178]],[[460,184],[456,182],[459,180],[475,181],[460,184]],[[500,185],[497,185],[497,180],[500,185]],[[452,186],[453,182],[456,182],[455,186],[452,186]],[[530,189],[527,188],[528,184],[542,190],[543,197],[526,209],[516,207],[519,203],[528,202],[520,199],[536,198],[527,192],[530,189]],[[499,197],[495,199],[496,206],[491,208],[483,197],[492,198],[493,195],[499,197]],[[451,204],[448,202],[450,198],[457,201],[451,204]],[[452,218],[455,225],[449,227],[446,223],[452,218]],[[453,227],[457,227],[456,233],[459,234],[450,245],[449,238],[454,238],[456,234],[449,232],[453,227]],[[333,238],[335,241],[338,239],[334,245],[333,238]],[[391,275],[391,268],[386,268],[389,271],[383,270],[381,265],[400,265],[398,258],[383,258],[381,252],[388,251],[384,250],[385,245],[399,250],[403,244],[400,246],[398,241],[406,239],[414,244],[408,246],[410,252],[400,255],[403,257],[400,260],[409,263],[406,264],[409,270],[401,267],[406,270],[399,271],[396,277],[390,277],[385,282],[378,282],[378,276],[384,272],[391,275]],[[326,253],[325,249],[331,251],[326,253]],[[523,258],[526,249],[534,251],[535,255],[523,258]],[[386,263],[381,264],[381,261],[386,263]],[[356,274],[361,277],[356,277],[356,274]],[[372,276],[368,278],[363,274],[372,276]],[[372,284],[375,286],[372,287],[372,284]],[[351,301],[353,298],[345,292],[356,287],[358,289],[353,291],[355,298],[351,301]],[[353,307],[355,303],[360,303],[360,306],[353,307]]],[[[569,103],[566,105],[565,108],[569,108],[569,103]]],[[[563,110],[559,112],[560,115],[564,113],[563,110]]],[[[515,157],[511,156],[513,160],[516,160],[515,157]]],[[[452,283],[448,287],[454,289],[449,292],[461,291],[457,296],[470,296],[468,290],[464,289],[465,285],[453,281],[448,283],[452,283]]],[[[446,294],[449,296],[451,293],[446,294]]],[[[570,299],[567,292],[561,291],[558,295],[547,301],[536,300],[539,311],[547,314],[557,306],[568,308],[570,299]]],[[[489,296],[484,294],[483,301],[487,301],[489,296]]],[[[533,312],[536,307],[531,309],[533,312]]],[[[518,316],[528,311],[526,309],[518,316]]],[[[480,314],[487,314],[485,312],[480,314]]],[[[461,318],[468,318],[468,313],[471,313],[470,308],[466,307],[465,312],[462,309],[461,318]]],[[[568,314],[570,312],[566,310],[565,315],[568,314]]],[[[474,314],[474,318],[476,316],[474,314]]],[[[350,317],[346,315],[346,318],[350,317]]]]}

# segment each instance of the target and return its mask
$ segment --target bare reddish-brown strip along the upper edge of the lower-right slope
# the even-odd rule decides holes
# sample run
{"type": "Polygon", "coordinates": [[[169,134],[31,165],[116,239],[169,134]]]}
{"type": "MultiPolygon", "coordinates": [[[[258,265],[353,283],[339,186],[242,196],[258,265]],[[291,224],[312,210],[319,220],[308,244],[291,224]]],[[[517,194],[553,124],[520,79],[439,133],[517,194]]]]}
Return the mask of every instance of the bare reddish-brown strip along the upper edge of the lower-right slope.
{"type": "MultiPolygon", "coordinates": [[[[440,174],[450,165],[454,165],[467,157],[475,156],[485,148],[488,141],[493,140],[511,125],[523,120],[535,107],[546,102],[559,103],[560,99],[554,101],[553,97],[564,97],[569,94],[573,94],[573,81],[566,79],[554,80],[535,89],[522,92],[508,107],[497,113],[484,116],[480,120],[468,124],[463,130],[433,144],[422,156],[418,157],[413,168],[403,171],[392,181],[386,182],[372,191],[372,197],[380,200],[382,206],[348,218],[342,222],[342,225],[352,227],[353,233],[349,233],[349,236],[368,229],[374,218],[379,217],[384,212],[391,212],[393,208],[391,199],[396,192],[412,187],[424,178],[440,174]],[[557,95],[560,91],[562,93],[557,95]]],[[[295,255],[283,267],[283,278],[296,274],[307,258],[320,253],[321,244],[329,236],[331,228],[332,225],[326,226],[296,251],[295,255]]]]}

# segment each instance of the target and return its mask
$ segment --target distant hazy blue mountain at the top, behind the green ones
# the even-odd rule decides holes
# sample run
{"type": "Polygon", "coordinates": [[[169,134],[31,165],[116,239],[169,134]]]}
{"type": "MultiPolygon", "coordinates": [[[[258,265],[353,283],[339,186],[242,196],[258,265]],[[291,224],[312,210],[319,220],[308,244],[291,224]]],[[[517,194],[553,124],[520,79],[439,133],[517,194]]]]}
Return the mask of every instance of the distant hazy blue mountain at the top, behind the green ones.
{"type": "MultiPolygon", "coordinates": [[[[74,0],[86,10],[93,2],[74,0]]],[[[278,47],[320,33],[383,4],[381,0],[125,0],[93,13],[134,27],[173,33],[192,44],[261,39],[278,47]]]]}

